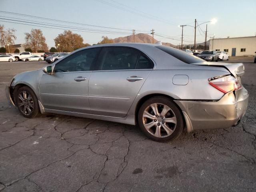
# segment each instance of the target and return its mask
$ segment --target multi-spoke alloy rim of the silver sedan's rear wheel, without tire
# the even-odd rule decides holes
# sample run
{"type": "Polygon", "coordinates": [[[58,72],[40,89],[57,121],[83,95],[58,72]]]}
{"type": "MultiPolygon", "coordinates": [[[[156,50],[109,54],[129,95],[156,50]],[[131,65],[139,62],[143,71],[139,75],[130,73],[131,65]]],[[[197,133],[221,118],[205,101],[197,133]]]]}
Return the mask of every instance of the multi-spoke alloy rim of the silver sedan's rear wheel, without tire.
{"type": "Polygon", "coordinates": [[[170,136],[177,124],[176,116],[172,109],[165,104],[154,103],[148,106],[142,116],[145,129],[155,137],[170,136]]]}

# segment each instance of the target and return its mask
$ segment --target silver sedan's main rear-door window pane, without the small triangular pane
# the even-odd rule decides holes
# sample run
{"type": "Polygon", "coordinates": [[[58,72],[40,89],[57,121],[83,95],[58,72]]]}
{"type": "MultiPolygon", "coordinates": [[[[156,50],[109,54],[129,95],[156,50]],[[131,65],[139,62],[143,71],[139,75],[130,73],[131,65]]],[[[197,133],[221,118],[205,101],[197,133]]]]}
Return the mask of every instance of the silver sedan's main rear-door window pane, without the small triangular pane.
{"type": "Polygon", "coordinates": [[[126,47],[102,48],[99,70],[135,69],[140,52],[126,47]]]}

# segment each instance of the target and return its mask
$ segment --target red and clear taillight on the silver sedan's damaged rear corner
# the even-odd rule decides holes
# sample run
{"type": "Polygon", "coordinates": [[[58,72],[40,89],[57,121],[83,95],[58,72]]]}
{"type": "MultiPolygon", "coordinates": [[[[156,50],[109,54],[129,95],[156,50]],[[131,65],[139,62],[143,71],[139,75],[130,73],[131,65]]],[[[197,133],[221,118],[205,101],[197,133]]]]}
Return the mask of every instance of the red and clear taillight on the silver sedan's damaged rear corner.
{"type": "Polygon", "coordinates": [[[210,78],[209,84],[223,93],[238,90],[242,86],[241,83],[231,75],[220,78],[210,78]]]}

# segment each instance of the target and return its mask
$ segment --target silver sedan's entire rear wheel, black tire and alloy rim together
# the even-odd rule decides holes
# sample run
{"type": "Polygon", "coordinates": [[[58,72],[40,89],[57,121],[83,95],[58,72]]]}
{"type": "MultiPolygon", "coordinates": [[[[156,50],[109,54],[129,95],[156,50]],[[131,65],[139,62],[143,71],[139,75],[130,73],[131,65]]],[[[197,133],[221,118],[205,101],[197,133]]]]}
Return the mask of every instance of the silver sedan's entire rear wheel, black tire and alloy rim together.
{"type": "Polygon", "coordinates": [[[152,97],[142,104],[138,112],[138,124],[148,138],[158,142],[174,140],[184,128],[179,108],[172,100],[162,96],[152,97]],[[158,116],[153,108],[158,109],[158,116]],[[145,126],[147,124],[148,128],[145,126]]]}

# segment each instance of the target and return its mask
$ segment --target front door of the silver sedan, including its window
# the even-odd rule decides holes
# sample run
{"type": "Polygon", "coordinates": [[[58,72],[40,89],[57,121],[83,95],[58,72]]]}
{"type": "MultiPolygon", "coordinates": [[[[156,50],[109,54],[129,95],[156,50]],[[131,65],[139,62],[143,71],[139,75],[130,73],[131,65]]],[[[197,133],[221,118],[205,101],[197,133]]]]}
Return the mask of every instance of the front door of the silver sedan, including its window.
{"type": "Polygon", "coordinates": [[[100,48],[85,49],[60,60],[52,75],[43,74],[40,97],[44,108],[89,113],[88,81],[100,48]]]}

